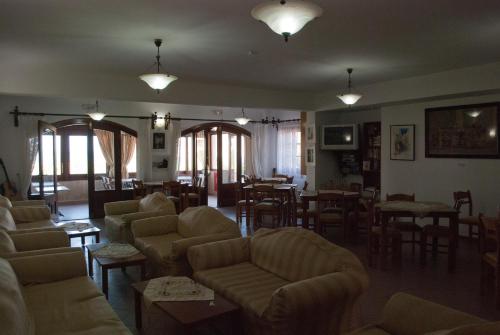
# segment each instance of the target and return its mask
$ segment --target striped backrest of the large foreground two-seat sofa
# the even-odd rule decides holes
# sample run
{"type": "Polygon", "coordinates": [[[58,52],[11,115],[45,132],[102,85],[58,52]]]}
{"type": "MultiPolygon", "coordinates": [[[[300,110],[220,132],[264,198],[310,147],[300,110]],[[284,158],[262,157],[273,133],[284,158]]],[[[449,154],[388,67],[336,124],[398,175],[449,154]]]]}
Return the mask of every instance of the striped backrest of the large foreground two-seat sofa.
{"type": "Polygon", "coordinates": [[[253,264],[289,281],[332,272],[365,270],[359,259],[318,234],[302,228],[259,229],[250,245],[253,264]]]}

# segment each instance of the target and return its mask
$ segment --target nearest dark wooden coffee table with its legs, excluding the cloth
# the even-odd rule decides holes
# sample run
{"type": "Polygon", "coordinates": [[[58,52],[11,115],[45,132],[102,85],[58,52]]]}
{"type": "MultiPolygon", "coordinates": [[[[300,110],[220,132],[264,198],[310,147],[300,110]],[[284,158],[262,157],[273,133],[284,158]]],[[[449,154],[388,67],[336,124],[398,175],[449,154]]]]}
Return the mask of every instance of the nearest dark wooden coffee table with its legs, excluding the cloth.
{"type": "MultiPolygon", "coordinates": [[[[132,284],[135,297],[135,325],[142,328],[141,304],[144,290],[149,281],[132,284]]],[[[230,318],[231,333],[238,332],[239,306],[215,293],[214,303],[210,301],[158,301],[154,302],[162,312],[174,319],[187,334],[191,334],[197,326],[209,324],[221,318],[230,318]]]]}

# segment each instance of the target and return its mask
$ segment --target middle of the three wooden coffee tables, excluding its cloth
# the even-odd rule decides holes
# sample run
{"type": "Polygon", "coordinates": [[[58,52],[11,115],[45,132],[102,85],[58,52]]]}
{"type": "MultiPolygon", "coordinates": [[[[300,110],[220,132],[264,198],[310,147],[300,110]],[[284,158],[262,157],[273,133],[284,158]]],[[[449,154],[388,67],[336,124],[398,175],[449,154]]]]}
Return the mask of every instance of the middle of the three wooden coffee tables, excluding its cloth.
{"type": "Polygon", "coordinates": [[[94,256],[94,252],[104,247],[108,243],[96,243],[89,244],[85,247],[87,248],[87,255],[89,258],[89,276],[94,276],[94,259],[97,261],[97,264],[101,267],[101,276],[102,276],[102,292],[108,298],[108,270],[121,268],[124,270],[128,266],[140,266],[141,267],[141,280],[144,280],[146,277],[146,256],[144,256],[141,252],[135,254],[130,257],[125,258],[107,258],[94,256]]]}

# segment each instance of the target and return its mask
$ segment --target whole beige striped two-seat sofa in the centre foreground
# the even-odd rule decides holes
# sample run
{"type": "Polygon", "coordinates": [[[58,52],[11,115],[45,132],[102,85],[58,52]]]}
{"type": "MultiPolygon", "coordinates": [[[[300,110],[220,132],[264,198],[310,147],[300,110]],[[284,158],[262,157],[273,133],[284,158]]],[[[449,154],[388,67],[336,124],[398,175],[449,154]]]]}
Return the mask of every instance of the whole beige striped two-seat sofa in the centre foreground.
{"type": "Polygon", "coordinates": [[[340,334],[368,287],[350,251],[301,228],[193,246],[195,280],[237,303],[247,334],[340,334]]]}

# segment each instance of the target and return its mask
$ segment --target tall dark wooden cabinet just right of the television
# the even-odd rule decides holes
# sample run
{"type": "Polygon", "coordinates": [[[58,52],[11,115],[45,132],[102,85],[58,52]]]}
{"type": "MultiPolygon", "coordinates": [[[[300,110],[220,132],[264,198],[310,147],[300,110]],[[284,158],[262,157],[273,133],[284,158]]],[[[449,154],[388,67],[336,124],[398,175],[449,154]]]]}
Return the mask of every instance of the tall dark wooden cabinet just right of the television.
{"type": "Polygon", "coordinates": [[[363,124],[362,173],[363,187],[380,190],[380,164],[382,131],[380,122],[363,124]]]}

